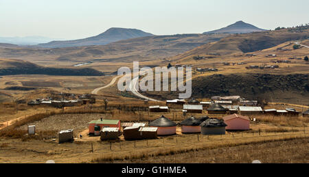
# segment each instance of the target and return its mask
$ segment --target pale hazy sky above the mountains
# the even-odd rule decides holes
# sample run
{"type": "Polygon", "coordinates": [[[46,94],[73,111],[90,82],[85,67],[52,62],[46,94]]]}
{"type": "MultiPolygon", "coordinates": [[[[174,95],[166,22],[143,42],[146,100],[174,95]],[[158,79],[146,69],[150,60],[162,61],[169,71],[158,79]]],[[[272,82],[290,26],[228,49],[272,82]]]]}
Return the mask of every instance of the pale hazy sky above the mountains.
{"type": "Polygon", "coordinates": [[[0,0],[0,37],[78,39],[110,27],[203,33],[244,21],[263,29],[309,23],[308,0],[0,0]]]}

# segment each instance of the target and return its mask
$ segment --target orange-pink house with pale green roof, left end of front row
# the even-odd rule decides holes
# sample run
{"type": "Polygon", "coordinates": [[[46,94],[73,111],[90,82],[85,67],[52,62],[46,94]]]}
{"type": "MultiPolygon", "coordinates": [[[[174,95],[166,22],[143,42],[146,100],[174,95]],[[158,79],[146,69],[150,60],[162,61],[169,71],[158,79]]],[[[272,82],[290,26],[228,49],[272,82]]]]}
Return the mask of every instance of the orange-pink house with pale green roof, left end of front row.
{"type": "Polygon", "coordinates": [[[120,120],[93,120],[88,122],[89,127],[89,135],[93,135],[95,133],[95,126],[100,126],[100,130],[104,127],[116,127],[120,129],[120,120]]]}

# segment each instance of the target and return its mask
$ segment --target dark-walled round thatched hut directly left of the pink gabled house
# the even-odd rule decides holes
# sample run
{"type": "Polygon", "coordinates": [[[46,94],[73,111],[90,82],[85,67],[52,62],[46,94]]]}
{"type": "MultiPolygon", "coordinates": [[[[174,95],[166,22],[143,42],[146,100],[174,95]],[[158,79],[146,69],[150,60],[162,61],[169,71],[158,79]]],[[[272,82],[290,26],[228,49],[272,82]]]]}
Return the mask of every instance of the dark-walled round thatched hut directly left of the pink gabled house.
{"type": "Polygon", "coordinates": [[[201,123],[202,135],[225,135],[225,122],[216,118],[209,118],[201,123]]]}

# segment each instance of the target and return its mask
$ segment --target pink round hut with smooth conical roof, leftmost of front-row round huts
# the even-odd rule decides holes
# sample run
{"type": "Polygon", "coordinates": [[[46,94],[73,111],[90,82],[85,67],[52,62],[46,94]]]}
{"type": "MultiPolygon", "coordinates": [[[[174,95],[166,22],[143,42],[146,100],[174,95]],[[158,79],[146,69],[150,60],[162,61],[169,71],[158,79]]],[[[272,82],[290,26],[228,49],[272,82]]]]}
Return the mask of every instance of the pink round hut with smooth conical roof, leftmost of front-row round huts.
{"type": "Polygon", "coordinates": [[[160,118],[150,122],[150,127],[157,127],[157,135],[174,135],[176,134],[176,123],[168,118],[165,118],[164,115],[161,115],[160,118]]]}

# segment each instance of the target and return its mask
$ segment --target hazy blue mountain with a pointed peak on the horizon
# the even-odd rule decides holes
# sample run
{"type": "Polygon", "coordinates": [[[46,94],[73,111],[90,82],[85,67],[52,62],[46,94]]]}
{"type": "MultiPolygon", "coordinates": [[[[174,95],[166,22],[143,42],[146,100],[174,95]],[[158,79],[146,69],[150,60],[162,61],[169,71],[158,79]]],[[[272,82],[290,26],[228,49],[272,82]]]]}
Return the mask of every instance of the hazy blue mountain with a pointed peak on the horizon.
{"type": "Polygon", "coordinates": [[[249,23],[244,23],[243,21],[238,21],[232,25],[229,25],[227,27],[223,27],[221,29],[217,29],[214,31],[208,31],[203,34],[209,34],[209,33],[252,33],[257,31],[266,31],[266,29],[260,29],[258,27],[255,27],[254,25],[251,25],[249,23]]]}

